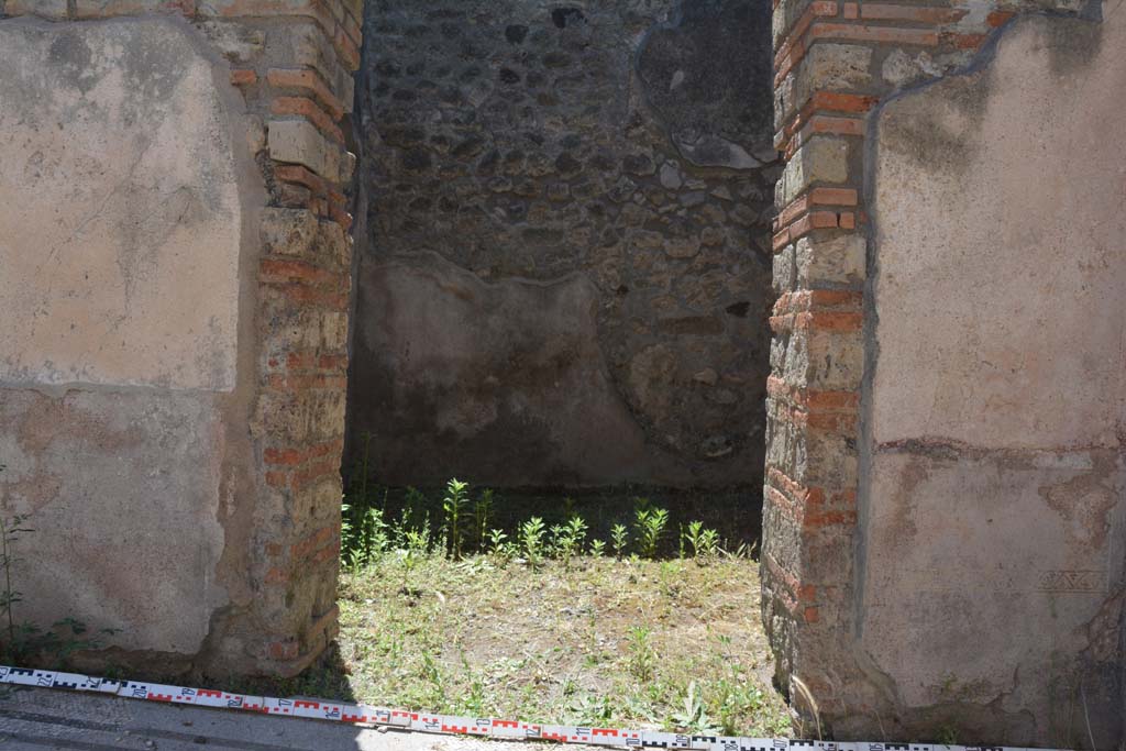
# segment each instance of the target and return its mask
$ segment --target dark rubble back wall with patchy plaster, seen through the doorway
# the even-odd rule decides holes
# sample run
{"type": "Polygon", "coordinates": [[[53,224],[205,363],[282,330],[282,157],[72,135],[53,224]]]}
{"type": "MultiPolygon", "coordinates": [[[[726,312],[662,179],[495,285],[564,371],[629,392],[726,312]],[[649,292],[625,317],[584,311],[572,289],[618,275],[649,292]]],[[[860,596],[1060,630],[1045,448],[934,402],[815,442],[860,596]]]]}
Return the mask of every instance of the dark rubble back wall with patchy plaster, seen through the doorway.
{"type": "Polygon", "coordinates": [[[365,28],[352,461],[757,485],[769,10],[376,0],[365,28]]]}

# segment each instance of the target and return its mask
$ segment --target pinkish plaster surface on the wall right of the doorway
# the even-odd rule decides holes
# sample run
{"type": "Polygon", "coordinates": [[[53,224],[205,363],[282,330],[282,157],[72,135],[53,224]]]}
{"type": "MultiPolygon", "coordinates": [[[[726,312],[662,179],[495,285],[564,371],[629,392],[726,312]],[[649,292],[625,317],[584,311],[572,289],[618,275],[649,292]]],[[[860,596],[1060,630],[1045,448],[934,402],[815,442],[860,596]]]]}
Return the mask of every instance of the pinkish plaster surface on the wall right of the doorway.
{"type": "Polygon", "coordinates": [[[1006,740],[1121,731],[1124,21],[1021,18],[873,143],[861,643],[1006,740]]]}

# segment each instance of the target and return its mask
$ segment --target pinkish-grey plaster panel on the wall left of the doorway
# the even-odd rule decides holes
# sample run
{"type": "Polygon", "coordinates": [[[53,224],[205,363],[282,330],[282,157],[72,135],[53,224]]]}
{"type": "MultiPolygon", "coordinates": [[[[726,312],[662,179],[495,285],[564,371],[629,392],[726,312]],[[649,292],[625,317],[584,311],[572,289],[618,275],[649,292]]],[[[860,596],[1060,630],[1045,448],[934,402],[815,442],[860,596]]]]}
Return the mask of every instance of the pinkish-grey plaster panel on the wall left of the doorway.
{"type": "Polygon", "coordinates": [[[229,599],[224,423],[262,193],[241,97],[169,18],[3,21],[0,50],[0,483],[35,529],[17,615],[195,653],[229,599]]]}

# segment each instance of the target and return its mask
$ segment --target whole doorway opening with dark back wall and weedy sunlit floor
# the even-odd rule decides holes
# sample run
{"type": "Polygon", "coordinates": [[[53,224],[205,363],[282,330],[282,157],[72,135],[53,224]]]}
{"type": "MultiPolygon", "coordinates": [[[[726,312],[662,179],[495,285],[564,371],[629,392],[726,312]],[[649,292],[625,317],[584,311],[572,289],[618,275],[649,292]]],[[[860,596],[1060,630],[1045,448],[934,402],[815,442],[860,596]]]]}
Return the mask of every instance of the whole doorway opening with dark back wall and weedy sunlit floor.
{"type": "Polygon", "coordinates": [[[784,733],[754,561],[769,5],[383,0],[364,26],[354,690],[784,733]]]}

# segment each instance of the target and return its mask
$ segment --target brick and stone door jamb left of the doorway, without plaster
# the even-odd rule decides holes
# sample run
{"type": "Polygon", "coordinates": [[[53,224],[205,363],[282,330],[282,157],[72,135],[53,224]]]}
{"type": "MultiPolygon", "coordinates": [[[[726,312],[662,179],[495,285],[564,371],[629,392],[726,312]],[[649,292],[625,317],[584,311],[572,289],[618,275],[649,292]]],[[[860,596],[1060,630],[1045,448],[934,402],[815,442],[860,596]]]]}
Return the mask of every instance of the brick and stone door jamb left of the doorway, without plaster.
{"type": "Polygon", "coordinates": [[[261,117],[268,186],[251,419],[256,596],[244,653],[280,674],[304,669],[337,632],[351,266],[343,191],[355,168],[339,124],[351,110],[360,14],[360,0],[197,0],[211,28],[260,32],[263,42],[232,60],[232,81],[261,117]]]}

